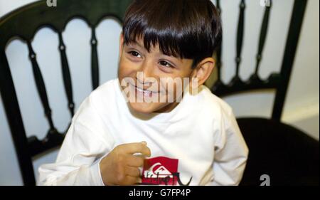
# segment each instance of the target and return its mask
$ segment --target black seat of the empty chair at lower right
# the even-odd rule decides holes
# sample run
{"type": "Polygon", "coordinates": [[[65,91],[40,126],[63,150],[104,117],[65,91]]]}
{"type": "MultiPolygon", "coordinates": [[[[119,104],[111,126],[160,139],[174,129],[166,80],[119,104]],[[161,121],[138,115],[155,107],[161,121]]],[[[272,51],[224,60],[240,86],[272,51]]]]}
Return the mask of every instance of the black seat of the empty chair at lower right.
{"type": "Polygon", "coordinates": [[[319,185],[319,141],[276,120],[239,118],[249,148],[240,185],[260,185],[262,174],[270,185],[319,185]]]}

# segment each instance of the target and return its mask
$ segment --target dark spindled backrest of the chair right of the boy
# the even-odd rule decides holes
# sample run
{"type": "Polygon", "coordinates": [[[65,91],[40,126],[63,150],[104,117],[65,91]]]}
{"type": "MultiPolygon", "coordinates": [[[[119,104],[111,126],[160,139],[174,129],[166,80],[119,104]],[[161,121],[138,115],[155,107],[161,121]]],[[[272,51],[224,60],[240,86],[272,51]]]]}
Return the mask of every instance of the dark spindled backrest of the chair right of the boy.
{"type": "MultiPolygon", "coordinates": [[[[256,56],[255,71],[252,73],[248,80],[241,80],[239,75],[242,53],[242,41],[245,28],[245,6],[246,1],[240,1],[240,14],[238,19],[238,32],[236,43],[236,58],[235,58],[235,75],[230,80],[230,83],[223,83],[221,80],[221,48],[217,51],[217,68],[218,68],[218,80],[211,87],[211,91],[218,96],[233,95],[235,93],[247,92],[250,90],[260,89],[274,89],[276,90],[274,105],[272,108],[272,119],[280,121],[282,115],[282,109],[284,106],[284,100],[287,94],[287,88],[289,84],[289,78],[292,72],[292,65],[294,62],[294,56],[297,50],[297,43],[299,41],[299,35],[302,28],[302,21],[304,19],[304,12],[306,9],[307,0],[294,0],[294,6],[292,9],[292,17],[289,24],[289,31],[287,35],[287,43],[284,48],[284,56],[282,58],[281,71],[279,73],[271,73],[269,78],[262,80],[259,77],[259,67],[262,60],[263,50],[265,47],[265,41],[267,38],[267,29],[270,19],[270,10],[272,9],[272,0],[262,0],[262,4],[265,4],[265,14],[262,19],[262,25],[260,30],[259,46],[256,56]]],[[[220,15],[223,12],[220,9],[220,0],[216,0],[216,6],[220,11],[220,15]]],[[[277,50],[275,50],[277,51],[277,50]]],[[[280,53],[280,52],[279,52],[280,53]]]]}

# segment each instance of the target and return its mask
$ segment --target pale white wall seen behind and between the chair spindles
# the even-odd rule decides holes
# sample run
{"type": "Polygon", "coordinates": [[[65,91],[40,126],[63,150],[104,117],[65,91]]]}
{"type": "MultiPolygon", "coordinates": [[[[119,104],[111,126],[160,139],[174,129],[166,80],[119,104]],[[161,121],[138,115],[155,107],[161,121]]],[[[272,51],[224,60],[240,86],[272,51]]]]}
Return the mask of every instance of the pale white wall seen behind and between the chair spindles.
{"type": "MultiPolygon", "coordinates": [[[[28,4],[33,0],[0,0],[0,16],[28,4]]],[[[223,80],[228,81],[235,73],[235,33],[238,22],[238,1],[222,1],[223,9],[223,80]]],[[[275,0],[270,19],[270,28],[261,63],[260,75],[267,78],[271,71],[279,71],[289,17],[293,0],[275,0]]],[[[255,68],[255,54],[260,33],[263,9],[258,0],[247,1],[245,19],[245,39],[242,53],[240,75],[247,79],[255,68]],[[249,26],[250,25],[250,26],[249,26]]],[[[117,76],[118,41],[121,27],[107,19],[97,29],[99,41],[100,83],[117,76]]],[[[1,33],[0,33],[1,34],[1,33]]],[[[80,19],[71,21],[63,38],[73,81],[73,95],[76,108],[89,95],[90,81],[90,29],[80,19]]],[[[50,106],[53,110],[53,121],[58,130],[65,130],[70,120],[67,100],[63,89],[60,70],[60,56],[57,51],[58,37],[48,28],[36,33],[33,48],[38,56],[50,106]],[[56,75],[53,75],[56,74],[56,75]]],[[[31,63],[28,60],[26,44],[14,40],[6,48],[11,73],[16,84],[18,102],[28,136],[42,138],[48,130],[48,122],[43,114],[40,99],[33,82],[31,63]],[[29,117],[32,116],[32,117],[29,117]]],[[[274,93],[252,93],[237,95],[225,100],[233,107],[235,115],[270,117],[274,93]],[[250,107],[250,109],[249,109],[250,107]]],[[[289,83],[287,101],[284,106],[284,122],[299,127],[319,139],[319,1],[309,0],[302,36],[299,41],[294,70],[289,83]]],[[[21,185],[21,174],[14,145],[6,121],[4,107],[0,98],[0,185],[21,185]]],[[[36,159],[34,169],[45,162],[54,162],[57,151],[36,159]]],[[[37,171],[36,171],[37,172],[37,171]]]]}

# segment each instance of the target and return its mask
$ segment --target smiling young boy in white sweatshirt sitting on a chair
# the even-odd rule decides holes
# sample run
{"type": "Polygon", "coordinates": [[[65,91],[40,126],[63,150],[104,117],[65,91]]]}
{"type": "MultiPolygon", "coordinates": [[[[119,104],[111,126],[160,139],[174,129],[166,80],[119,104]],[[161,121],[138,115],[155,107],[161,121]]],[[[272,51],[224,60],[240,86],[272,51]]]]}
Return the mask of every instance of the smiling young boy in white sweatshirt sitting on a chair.
{"type": "Polygon", "coordinates": [[[239,184],[247,146],[230,106],[203,85],[220,39],[209,0],[133,1],[118,78],[82,102],[39,184],[239,184]]]}

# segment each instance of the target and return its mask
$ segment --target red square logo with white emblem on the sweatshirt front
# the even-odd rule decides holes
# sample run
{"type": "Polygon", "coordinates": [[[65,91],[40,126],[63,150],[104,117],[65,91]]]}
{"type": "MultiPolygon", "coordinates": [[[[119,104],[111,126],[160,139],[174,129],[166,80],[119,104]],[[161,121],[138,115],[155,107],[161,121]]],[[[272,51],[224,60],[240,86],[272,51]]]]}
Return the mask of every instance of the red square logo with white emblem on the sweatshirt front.
{"type": "MultiPolygon", "coordinates": [[[[168,157],[144,159],[142,184],[176,185],[177,181],[178,184],[183,185],[178,173],[178,159],[171,159],[168,157]]],[[[190,184],[190,181],[188,184],[190,184]]]]}

